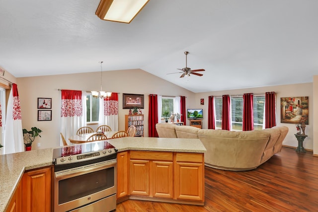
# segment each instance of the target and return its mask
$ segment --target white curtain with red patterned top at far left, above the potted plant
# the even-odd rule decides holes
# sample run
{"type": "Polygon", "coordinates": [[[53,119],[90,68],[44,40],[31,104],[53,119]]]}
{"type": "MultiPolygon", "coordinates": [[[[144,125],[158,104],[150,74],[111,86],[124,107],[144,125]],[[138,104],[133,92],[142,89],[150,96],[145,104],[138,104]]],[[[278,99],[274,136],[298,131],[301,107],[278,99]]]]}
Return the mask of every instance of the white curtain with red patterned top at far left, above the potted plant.
{"type": "Polygon", "coordinates": [[[12,84],[7,103],[3,154],[24,151],[20,100],[16,84],[12,84]]]}

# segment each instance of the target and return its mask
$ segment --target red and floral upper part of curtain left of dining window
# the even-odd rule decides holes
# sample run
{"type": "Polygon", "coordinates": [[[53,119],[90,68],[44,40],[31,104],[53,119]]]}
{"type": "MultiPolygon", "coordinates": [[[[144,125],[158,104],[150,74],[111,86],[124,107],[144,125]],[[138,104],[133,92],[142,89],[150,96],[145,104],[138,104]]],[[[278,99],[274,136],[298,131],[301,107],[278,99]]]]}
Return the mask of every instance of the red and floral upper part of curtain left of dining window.
{"type": "Polygon", "coordinates": [[[82,116],[80,90],[62,90],[61,117],[82,116]]]}

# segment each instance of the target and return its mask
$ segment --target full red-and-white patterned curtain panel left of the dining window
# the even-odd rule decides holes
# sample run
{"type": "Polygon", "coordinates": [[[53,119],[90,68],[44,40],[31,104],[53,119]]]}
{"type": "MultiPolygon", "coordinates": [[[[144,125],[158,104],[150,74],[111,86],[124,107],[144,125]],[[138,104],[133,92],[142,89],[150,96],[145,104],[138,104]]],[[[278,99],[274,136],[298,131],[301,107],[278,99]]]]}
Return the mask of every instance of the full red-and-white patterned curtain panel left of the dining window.
{"type": "MultiPolygon", "coordinates": [[[[68,138],[76,135],[80,127],[86,126],[86,92],[80,90],[61,91],[61,133],[68,138]]],[[[62,138],[60,145],[63,146],[62,138]]]]}

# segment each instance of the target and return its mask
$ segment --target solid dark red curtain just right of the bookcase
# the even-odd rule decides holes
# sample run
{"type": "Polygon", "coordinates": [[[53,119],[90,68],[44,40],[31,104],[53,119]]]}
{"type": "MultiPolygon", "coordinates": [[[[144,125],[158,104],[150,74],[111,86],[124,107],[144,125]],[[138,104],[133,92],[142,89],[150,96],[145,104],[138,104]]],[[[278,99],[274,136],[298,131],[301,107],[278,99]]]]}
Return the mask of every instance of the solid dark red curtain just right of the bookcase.
{"type": "Polygon", "coordinates": [[[156,94],[149,95],[148,122],[149,122],[149,129],[148,129],[149,137],[159,137],[156,130],[156,124],[158,123],[158,97],[156,94]]]}

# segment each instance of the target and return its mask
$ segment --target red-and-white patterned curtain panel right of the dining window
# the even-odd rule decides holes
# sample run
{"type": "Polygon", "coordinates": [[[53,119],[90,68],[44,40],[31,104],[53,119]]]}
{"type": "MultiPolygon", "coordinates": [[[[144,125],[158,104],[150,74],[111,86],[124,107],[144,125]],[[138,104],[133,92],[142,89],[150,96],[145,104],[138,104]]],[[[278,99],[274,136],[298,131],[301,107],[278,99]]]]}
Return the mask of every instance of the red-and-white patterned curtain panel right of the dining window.
{"type": "Polygon", "coordinates": [[[118,93],[112,93],[99,101],[98,126],[108,125],[112,131],[118,131],[118,93]]]}

